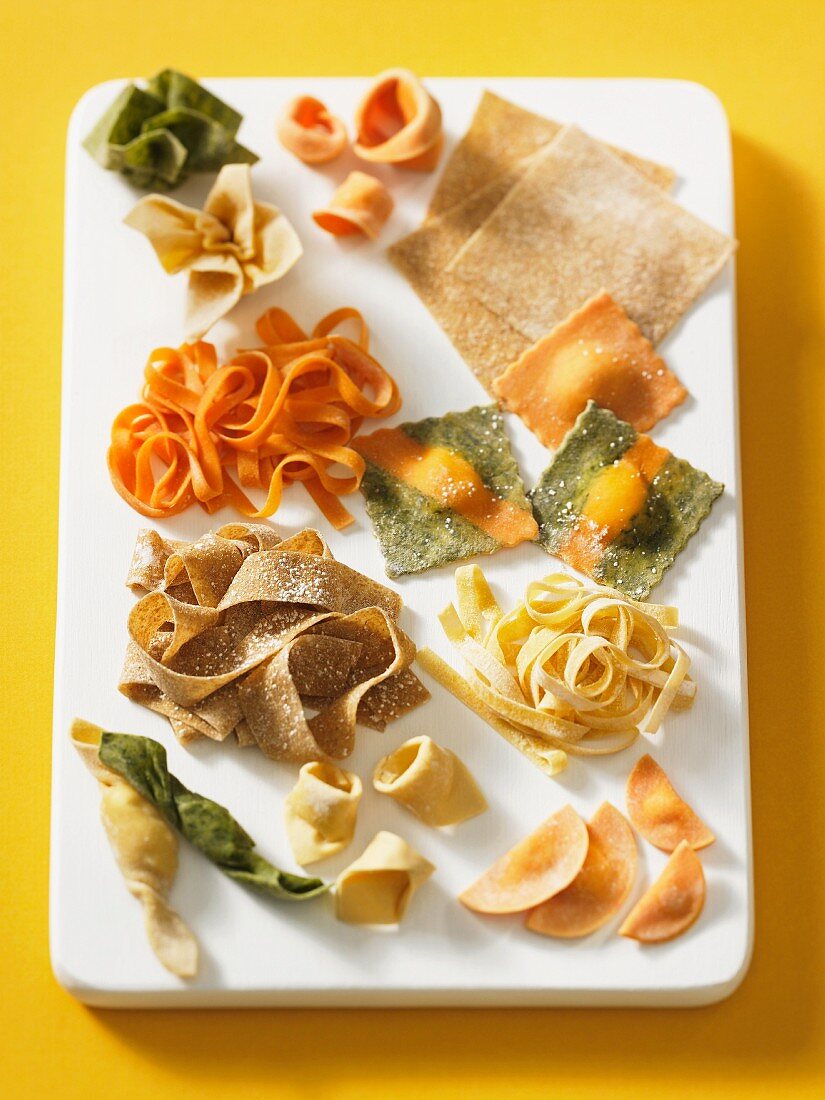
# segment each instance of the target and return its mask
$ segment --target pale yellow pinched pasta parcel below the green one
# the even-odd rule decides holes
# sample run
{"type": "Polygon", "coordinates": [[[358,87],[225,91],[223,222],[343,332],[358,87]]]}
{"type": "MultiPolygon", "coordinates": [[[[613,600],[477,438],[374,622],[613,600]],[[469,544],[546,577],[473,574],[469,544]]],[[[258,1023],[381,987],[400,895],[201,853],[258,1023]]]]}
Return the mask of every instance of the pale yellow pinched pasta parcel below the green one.
{"type": "Polygon", "coordinates": [[[147,195],[124,221],[148,238],[167,274],[189,273],[189,340],[200,339],[243,295],[286,275],[304,251],[277,207],[253,200],[248,164],[221,168],[202,210],[147,195]]]}

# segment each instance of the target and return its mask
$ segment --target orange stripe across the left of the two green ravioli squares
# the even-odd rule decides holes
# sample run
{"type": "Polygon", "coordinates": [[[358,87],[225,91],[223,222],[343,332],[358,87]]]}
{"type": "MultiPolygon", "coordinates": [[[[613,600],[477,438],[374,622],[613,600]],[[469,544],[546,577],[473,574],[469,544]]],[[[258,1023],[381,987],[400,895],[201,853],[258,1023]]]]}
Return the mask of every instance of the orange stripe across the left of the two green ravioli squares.
{"type": "Polygon", "coordinates": [[[425,496],[452,508],[503,547],[536,538],[532,516],[494,496],[472,465],[443,447],[425,447],[400,428],[385,428],[358,440],[356,450],[425,496]]]}

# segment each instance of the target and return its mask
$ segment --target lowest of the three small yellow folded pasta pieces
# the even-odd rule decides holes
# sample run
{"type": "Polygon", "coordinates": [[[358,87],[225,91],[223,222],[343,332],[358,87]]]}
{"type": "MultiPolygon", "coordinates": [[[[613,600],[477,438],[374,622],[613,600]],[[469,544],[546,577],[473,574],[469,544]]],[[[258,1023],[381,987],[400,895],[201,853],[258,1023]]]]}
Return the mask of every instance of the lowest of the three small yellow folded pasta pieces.
{"type": "Polygon", "coordinates": [[[394,833],[376,833],[336,882],[336,915],[348,924],[398,924],[436,868],[394,833]]]}

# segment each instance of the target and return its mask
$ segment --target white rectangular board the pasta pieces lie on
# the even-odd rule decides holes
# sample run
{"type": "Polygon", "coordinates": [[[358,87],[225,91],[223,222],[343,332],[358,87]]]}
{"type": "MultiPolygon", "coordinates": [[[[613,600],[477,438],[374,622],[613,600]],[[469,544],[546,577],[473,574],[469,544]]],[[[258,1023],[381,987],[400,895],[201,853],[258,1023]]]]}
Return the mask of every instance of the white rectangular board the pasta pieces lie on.
{"type": "MultiPolygon", "coordinates": [[[[388,263],[384,246],[416,227],[437,174],[373,169],[391,185],[396,211],[378,244],[339,243],[311,221],[334,184],[355,167],[346,154],[320,170],[301,165],[276,142],[275,118],[287,99],[311,92],[346,120],[365,79],[209,80],[244,114],[241,140],[261,154],[256,196],[279,206],[306,254],[275,286],[243,300],[212,339],[221,352],[254,344],[253,322],[268,306],[292,310],[306,327],[352,305],[373,330],[373,350],[400,385],[398,422],[488,400],[447,337],[388,263]]],[[[705,88],[678,80],[431,79],[448,129],[448,148],[463,133],[484,88],[592,134],[672,165],[675,196],[717,229],[733,231],[730,141],[725,113],[705,88]]],[[[92,88],[72,119],[66,195],[66,285],[61,466],[59,584],[55,659],[52,821],[52,959],[58,980],[81,1000],[102,1005],[253,1004],[701,1004],[730,993],[748,965],[752,931],[748,719],[745,672],[741,506],[734,273],[728,265],[662,345],[691,392],[659,425],[657,442],[714,477],[726,492],[654,598],[680,608],[681,638],[698,684],[694,707],[669,718],[653,755],[680,792],[708,822],[716,843],[702,853],[707,904],[698,923],[671,944],[641,947],[616,935],[618,920],[580,942],[528,933],[521,920],[468,912],[455,894],[494,858],[570,801],[585,817],[604,799],[624,810],[625,779],[650,747],[596,760],[572,758],[557,780],[541,774],[440,686],[433,697],[385,734],[360,729],[346,767],[365,795],[351,847],[320,865],[333,878],[378,828],[404,836],[436,864],[404,923],[376,932],[339,923],[332,899],[278,904],[221,876],[182,845],[172,902],[196,931],[202,967],[196,981],[167,974],[153,956],[139,904],[129,895],[98,817],[97,785],[75,755],[69,722],[82,715],[109,729],[154,737],[189,788],[228,806],[272,861],[298,870],[284,834],[283,799],[293,769],[232,745],[177,745],[166,722],[117,691],[134,597],[123,585],[132,544],[145,520],[114,493],[106,469],[116,413],[138,399],[151,349],[183,339],[185,278],[164,275],[147,242],[122,224],[136,196],[103,172],[80,141],[121,87],[92,88]],[[454,831],[419,823],[376,794],[375,762],[407,737],[427,733],[454,749],[477,777],[490,811],[454,831]]],[[[200,206],[211,180],[175,193],[200,206]]],[[[372,430],[371,425],[366,430],[372,430]]],[[[549,454],[516,418],[507,431],[528,486],[549,454]]],[[[320,528],[342,561],[383,578],[383,562],[360,494],[356,522],[331,530],[300,487],[277,516],[285,530],[320,528]]],[[[194,538],[230,519],[193,509],[164,534],[194,538]]],[[[509,605],[528,581],[558,562],[537,546],[481,559],[509,605]]],[[[451,598],[450,566],[397,582],[403,624],[419,646],[451,658],[436,613],[451,598]]],[[[426,679],[426,676],[425,676],[426,679]]],[[[639,842],[634,898],[666,857],[639,842]]]]}

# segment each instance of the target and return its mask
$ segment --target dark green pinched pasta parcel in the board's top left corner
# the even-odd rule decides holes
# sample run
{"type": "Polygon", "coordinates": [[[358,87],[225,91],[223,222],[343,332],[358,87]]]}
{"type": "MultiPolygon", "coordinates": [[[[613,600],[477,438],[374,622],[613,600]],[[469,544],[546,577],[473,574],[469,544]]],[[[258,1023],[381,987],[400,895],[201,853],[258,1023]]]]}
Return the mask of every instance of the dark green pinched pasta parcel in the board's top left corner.
{"type": "Polygon", "coordinates": [[[163,69],[146,89],[128,85],[84,147],[136,187],[170,190],[198,172],[258,158],[237,141],[243,116],[197,80],[163,69]]]}

